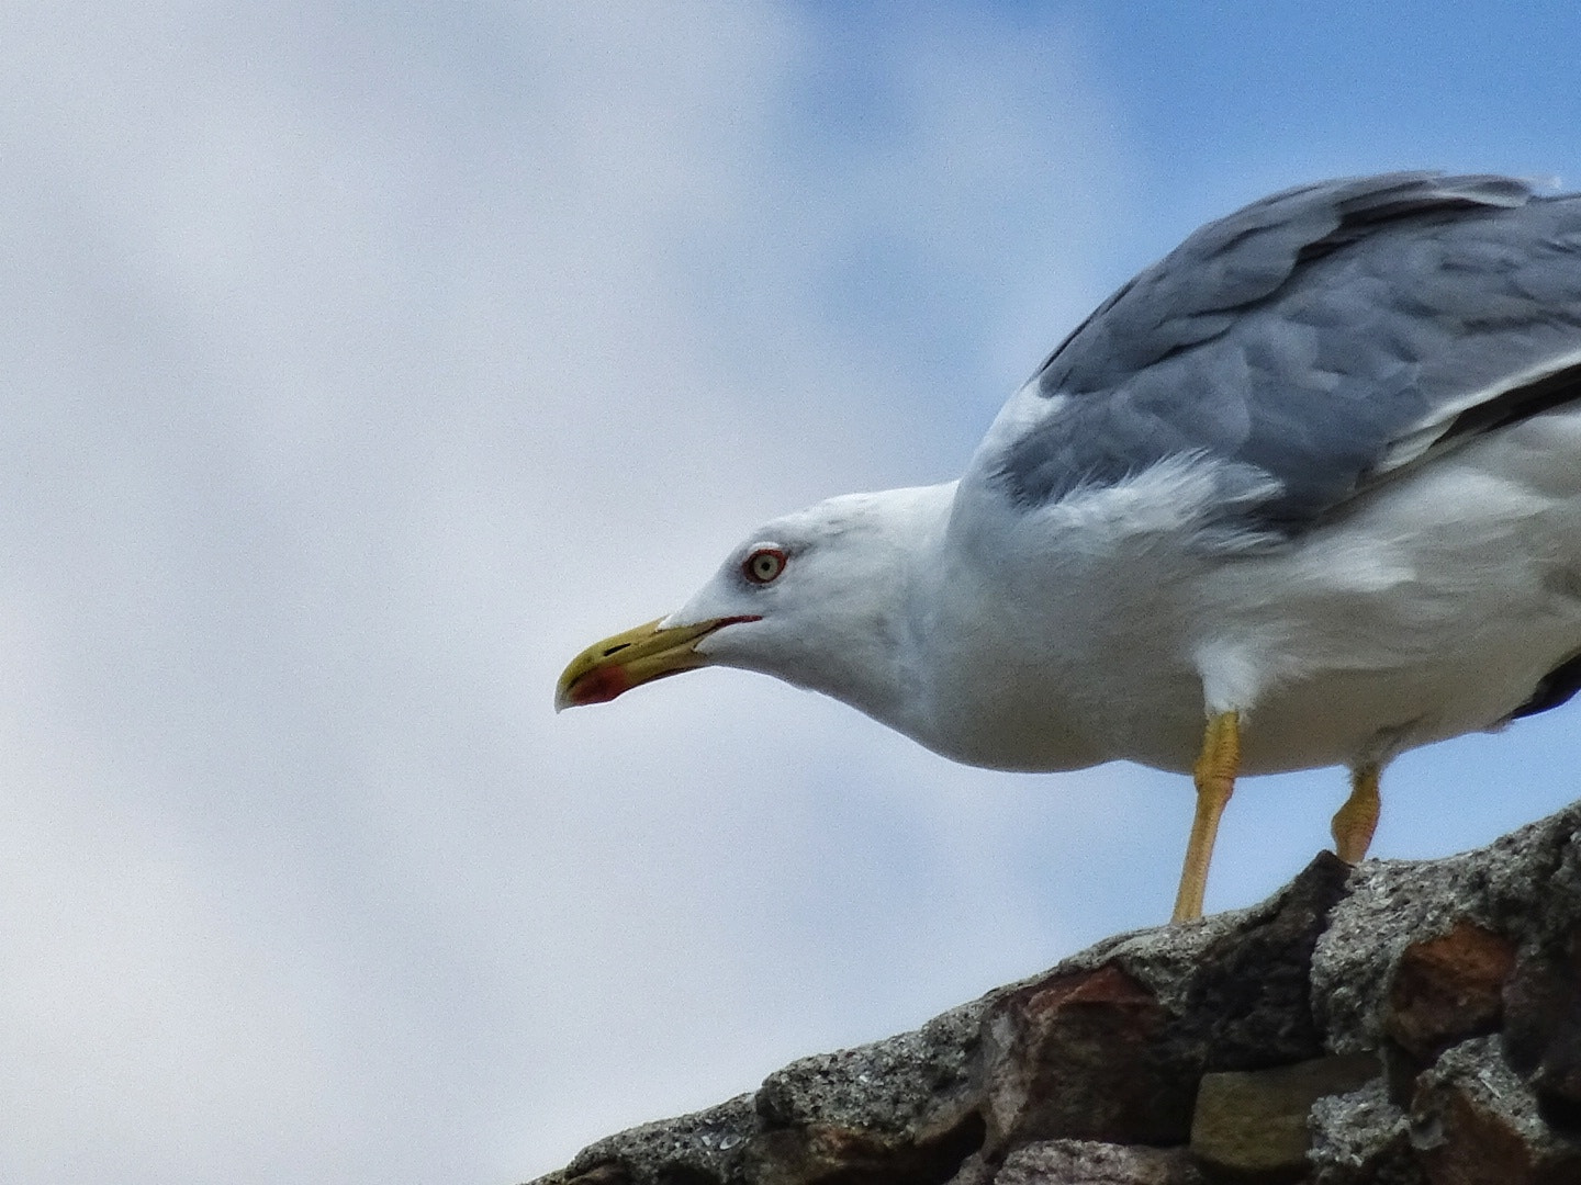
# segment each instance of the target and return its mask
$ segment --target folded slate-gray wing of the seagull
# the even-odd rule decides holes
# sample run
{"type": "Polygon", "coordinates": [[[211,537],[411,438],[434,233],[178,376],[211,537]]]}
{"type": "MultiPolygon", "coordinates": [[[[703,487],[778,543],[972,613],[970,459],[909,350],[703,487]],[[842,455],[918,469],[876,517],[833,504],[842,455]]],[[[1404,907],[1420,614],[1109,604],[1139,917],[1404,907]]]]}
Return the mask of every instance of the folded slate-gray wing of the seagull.
{"type": "Polygon", "coordinates": [[[1266,198],[1110,297],[968,480],[1023,507],[1217,461],[1213,534],[1277,542],[1456,438],[1581,398],[1581,196],[1390,174],[1266,198]]]}

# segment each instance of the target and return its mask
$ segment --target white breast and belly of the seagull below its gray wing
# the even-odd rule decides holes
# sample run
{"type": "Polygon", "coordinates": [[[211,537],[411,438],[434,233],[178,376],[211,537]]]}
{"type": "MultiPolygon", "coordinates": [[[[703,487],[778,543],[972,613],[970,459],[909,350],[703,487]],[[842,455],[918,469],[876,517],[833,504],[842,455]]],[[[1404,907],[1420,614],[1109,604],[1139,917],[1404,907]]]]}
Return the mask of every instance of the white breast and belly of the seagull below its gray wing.
{"type": "Polygon", "coordinates": [[[1581,653],[1581,412],[1436,457],[1274,553],[1116,518],[1066,515],[1092,537],[1021,540],[1024,569],[982,583],[998,611],[941,664],[975,675],[933,689],[919,739],[999,768],[1186,771],[1205,714],[1233,708],[1246,773],[1355,765],[1494,727],[1581,653]]]}

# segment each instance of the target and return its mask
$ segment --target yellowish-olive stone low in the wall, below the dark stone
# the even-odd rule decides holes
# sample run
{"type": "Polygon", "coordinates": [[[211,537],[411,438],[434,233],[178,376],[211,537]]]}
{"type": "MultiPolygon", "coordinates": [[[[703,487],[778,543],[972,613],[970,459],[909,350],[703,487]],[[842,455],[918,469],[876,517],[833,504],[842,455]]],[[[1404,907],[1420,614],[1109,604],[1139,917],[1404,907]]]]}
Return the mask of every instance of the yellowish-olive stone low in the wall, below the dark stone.
{"type": "Polygon", "coordinates": [[[1379,1060],[1366,1054],[1206,1074],[1197,1092],[1190,1150],[1209,1176],[1221,1179],[1270,1185],[1300,1180],[1312,1104],[1379,1078],[1379,1060]]]}

